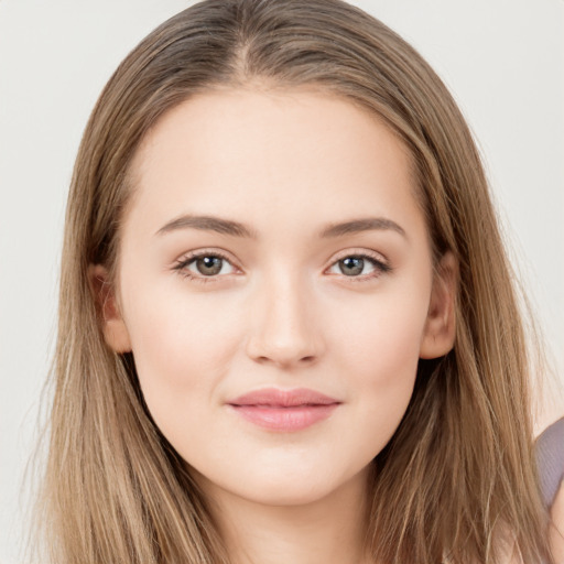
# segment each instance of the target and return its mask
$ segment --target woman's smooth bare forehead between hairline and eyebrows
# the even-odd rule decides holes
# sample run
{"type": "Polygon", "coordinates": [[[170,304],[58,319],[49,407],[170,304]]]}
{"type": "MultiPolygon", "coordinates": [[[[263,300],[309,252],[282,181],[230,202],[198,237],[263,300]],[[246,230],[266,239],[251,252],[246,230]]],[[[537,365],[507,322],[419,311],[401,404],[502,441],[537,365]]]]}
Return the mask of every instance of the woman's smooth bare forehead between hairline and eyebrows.
{"type": "Polygon", "coordinates": [[[398,137],[368,110],[315,90],[193,97],[147,134],[131,173],[128,215],[154,230],[182,214],[236,215],[259,231],[370,212],[419,214],[398,137]]]}

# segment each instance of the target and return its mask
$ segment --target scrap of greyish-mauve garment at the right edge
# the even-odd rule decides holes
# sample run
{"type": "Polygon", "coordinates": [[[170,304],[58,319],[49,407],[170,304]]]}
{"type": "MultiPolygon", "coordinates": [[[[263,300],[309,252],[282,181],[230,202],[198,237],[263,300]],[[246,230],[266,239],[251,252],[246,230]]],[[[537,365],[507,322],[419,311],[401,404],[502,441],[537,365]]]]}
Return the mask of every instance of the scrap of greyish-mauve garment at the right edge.
{"type": "Polygon", "coordinates": [[[536,464],[544,503],[550,508],[564,478],[564,417],[536,440],[536,464]]]}

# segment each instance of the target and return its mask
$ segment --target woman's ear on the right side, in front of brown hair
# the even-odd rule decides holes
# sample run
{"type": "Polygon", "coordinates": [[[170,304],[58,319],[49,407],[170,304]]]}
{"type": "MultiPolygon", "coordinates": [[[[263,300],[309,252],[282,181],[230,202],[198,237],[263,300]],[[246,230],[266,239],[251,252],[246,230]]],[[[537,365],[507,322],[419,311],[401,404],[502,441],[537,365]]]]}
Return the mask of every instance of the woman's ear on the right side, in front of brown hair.
{"type": "Polygon", "coordinates": [[[438,358],[452,350],[456,336],[457,286],[458,262],[454,254],[447,251],[438,261],[433,279],[420,358],[438,358]]]}

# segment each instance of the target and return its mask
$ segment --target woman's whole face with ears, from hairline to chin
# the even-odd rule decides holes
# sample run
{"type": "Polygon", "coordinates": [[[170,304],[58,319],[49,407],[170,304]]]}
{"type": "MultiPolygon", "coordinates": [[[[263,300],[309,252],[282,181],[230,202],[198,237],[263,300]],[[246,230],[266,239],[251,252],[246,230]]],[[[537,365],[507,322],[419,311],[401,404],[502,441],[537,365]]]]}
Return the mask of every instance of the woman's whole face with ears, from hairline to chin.
{"type": "Polygon", "coordinates": [[[453,339],[401,142],[335,96],[221,90],[132,171],[106,338],[161,432],[204,487],[261,503],[364,480],[453,339]]]}

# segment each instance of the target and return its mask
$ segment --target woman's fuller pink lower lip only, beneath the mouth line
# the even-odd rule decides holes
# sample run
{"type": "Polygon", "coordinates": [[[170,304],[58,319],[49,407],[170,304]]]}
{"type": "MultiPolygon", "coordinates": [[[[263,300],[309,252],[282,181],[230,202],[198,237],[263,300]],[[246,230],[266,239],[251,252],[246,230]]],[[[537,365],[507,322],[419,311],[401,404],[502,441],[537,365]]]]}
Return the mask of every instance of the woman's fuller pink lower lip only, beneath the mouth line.
{"type": "Polygon", "coordinates": [[[293,432],[307,429],[327,419],[338,406],[328,405],[296,405],[278,408],[269,405],[231,405],[243,419],[270,431],[293,432]]]}

